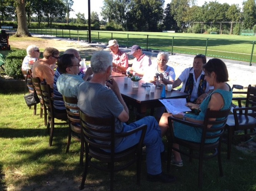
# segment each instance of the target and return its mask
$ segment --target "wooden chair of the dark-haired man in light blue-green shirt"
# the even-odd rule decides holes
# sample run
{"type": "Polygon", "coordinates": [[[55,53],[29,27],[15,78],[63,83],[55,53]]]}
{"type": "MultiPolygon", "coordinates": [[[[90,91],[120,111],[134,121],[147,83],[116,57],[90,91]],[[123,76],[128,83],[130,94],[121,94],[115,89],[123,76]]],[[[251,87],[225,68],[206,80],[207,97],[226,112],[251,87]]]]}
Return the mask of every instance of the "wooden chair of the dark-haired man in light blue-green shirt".
{"type": "Polygon", "coordinates": [[[71,142],[71,137],[77,141],[81,142],[81,149],[80,149],[80,165],[83,165],[83,158],[84,158],[84,139],[81,134],[81,124],[79,118],[79,111],[77,107],[77,98],[76,97],[66,97],[63,95],[64,104],[66,107],[67,115],[68,115],[68,125],[69,125],[69,132],[68,132],[68,144],[66,148],[66,153],[69,151],[69,146],[71,142]]]}

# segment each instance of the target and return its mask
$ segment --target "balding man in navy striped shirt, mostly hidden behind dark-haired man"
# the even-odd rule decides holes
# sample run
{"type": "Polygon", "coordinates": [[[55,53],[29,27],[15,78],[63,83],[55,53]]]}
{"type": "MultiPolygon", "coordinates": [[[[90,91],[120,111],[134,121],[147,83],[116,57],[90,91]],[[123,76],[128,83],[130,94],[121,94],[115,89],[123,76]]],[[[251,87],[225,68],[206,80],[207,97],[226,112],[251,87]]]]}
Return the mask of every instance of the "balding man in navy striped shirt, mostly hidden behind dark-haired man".
{"type": "MultiPolygon", "coordinates": [[[[64,54],[74,55],[74,57],[77,59],[78,64],[82,60],[78,50],[76,50],[76,49],[67,49],[64,52],[64,54]]],[[[78,66],[78,69],[79,69],[79,66],[78,66]]],[[[57,85],[56,85],[57,80],[58,80],[59,76],[61,76],[61,74],[63,74],[63,72],[61,72],[61,70],[59,68],[59,62],[58,62],[58,67],[56,68],[55,74],[54,74],[54,88],[53,88],[53,97],[58,98],[58,100],[53,101],[53,106],[54,106],[55,110],[58,111],[59,113],[65,113],[66,112],[66,107],[65,107],[63,97],[62,97],[63,94],[61,94],[61,92],[59,92],[59,90],[57,88],[57,85]]],[[[86,81],[86,80],[90,79],[92,71],[91,71],[91,68],[88,68],[86,70],[86,73],[81,73],[79,71],[77,74],[80,76],[80,78],[83,78],[83,80],[86,81]]]]}

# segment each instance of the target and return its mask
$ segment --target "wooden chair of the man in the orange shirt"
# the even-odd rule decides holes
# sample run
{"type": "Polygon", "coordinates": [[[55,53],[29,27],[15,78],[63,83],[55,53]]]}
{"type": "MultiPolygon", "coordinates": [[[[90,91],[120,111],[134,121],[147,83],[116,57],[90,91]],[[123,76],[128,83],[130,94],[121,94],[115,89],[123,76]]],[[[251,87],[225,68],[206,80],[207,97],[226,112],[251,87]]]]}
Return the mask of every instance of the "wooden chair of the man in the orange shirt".
{"type": "MultiPolygon", "coordinates": [[[[31,81],[36,90],[36,94],[40,98],[40,118],[43,117],[43,112],[44,112],[44,121],[45,121],[45,126],[46,126],[47,125],[47,108],[46,108],[45,102],[42,98],[43,94],[42,94],[42,90],[41,90],[41,86],[40,86],[41,80],[40,80],[40,78],[36,77],[36,78],[31,78],[31,81]]],[[[49,129],[47,129],[47,130],[49,130],[49,129]]]]}

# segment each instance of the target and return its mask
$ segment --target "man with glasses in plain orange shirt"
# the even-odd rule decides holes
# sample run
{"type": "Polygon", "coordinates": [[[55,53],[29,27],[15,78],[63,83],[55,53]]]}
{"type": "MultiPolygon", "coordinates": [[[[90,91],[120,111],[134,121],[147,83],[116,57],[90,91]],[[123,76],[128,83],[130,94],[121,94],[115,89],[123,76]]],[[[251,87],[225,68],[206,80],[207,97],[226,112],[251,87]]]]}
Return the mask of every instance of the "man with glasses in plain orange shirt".
{"type": "Polygon", "coordinates": [[[43,52],[43,58],[37,60],[32,68],[33,78],[39,77],[41,81],[45,79],[46,83],[53,89],[53,68],[59,58],[59,50],[53,47],[47,47],[43,52]]]}

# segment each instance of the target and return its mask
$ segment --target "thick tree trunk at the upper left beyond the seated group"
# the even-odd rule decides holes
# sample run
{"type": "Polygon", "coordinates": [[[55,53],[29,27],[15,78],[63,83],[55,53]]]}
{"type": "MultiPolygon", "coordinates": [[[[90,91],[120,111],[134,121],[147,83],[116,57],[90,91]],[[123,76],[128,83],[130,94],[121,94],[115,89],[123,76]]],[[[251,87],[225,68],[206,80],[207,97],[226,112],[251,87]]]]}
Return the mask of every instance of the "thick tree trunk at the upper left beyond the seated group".
{"type": "Polygon", "coordinates": [[[25,0],[17,0],[16,6],[18,29],[15,33],[15,37],[31,37],[31,34],[28,31],[28,25],[26,23],[26,11],[25,11],[25,0]]]}

